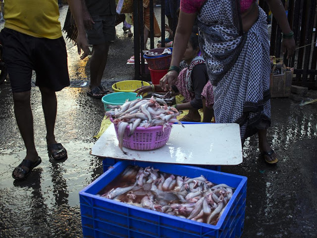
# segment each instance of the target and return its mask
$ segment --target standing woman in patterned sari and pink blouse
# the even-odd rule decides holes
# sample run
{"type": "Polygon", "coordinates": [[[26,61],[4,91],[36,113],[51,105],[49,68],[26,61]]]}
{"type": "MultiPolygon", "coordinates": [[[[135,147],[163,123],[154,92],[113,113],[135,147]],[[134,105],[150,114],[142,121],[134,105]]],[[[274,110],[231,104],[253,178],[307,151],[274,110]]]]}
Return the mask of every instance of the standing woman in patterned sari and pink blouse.
{"type": "MultiPolygon", "coordinates": [[[[293,32],[280,0],[266,0],[283,32],[283,53],[295,51],[293,32]]],[[[267,163],[278,161],[266,139],[270,126],[269,39],[266,15],[256,0],[181,0],[169,72],[160,80],[170,88],[191,28],[199,26],[200,49],[214,93],[217,123],[240,124],[242,144],[258,133],[259,150],[267,163]]]]}

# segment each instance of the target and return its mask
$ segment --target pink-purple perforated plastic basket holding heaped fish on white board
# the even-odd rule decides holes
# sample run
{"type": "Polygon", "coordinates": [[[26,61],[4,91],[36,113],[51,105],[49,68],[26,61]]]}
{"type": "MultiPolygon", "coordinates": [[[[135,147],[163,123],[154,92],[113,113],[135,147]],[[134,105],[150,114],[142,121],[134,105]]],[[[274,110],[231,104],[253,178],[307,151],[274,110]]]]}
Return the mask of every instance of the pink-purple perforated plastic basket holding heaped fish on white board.
{"type": "MultiPolygon", "coordinates": [[[[118,138],[118,124],[114,123],[114,129],[118,138]]],[[[155,150],[166,144],[170,131],[171,126],[165,127],[164,131],[161,125],[149,128],[137,127],[132,136],[129,137],[130,127],[127,126],[123,136],[123,146],[138,151],[155,150]]]]}

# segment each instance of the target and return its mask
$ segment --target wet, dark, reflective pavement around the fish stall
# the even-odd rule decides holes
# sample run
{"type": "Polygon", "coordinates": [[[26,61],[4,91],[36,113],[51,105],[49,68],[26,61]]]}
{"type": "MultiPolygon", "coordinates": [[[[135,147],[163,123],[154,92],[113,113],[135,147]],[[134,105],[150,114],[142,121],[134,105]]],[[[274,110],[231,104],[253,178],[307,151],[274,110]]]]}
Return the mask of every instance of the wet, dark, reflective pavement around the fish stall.
{"type": "MultiPolygon", "coordinates": [[[[67,7],[61,8],[61,19],[67,7]]],[[[62,21],[62,20],[61,20],[62,21]]],[[[3,26],[3,24],[2,24],[3,26]]],[[[117,26],[110,46],[103,84],[133,79],[133,38],[117,26]]],[[[89,59],[80,61],[76,48],[66,42],[71,86],[57,92],[55,135],[68,159],[50,161],[40,91],[32,87],[31,106],[35,143],[42,163],[25,181],[11,173],[24,159],[25,149],[13,112],[7,82],[0,85],[0,237],[82,237],[78,193],[102,174],[102,161],[89,154],[104,117],[101,100],[87,97],[89,59]]],[[[317,103],[299,106],[306,97],[272,99],[272,126],[268,139],[280,156],[276,166],[259,159],[257,137],[248,139],[243,163],[222,171],[248,177],[243,237],[317,236],[317,103]]]]}

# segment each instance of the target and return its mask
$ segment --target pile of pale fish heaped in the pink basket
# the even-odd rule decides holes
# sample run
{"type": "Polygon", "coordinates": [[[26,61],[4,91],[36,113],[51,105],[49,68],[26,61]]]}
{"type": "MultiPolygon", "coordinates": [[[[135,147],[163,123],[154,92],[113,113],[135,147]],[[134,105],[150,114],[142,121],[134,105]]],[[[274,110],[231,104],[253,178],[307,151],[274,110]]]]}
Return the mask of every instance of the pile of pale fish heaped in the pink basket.
{"type": "Polygon", "coordinates": [[[126,101],[122,106],[107,105],[107,107],[111,110],[106,112],[106,116],[107,118],[111,117],[113,123],[118,126],[119,148],[124,154],[127,154],[122,148],[126,128],[130,129],[129,136],[132,136],[138,126],[148,128],[162,125],[164,130],[174,122],[182,124],[176,119],[179,112],[173,107],[168,107],[161,98],[136,99],[134,101],[126,101]],[[159,103],[163,104],[163,106],[159,103]]]}

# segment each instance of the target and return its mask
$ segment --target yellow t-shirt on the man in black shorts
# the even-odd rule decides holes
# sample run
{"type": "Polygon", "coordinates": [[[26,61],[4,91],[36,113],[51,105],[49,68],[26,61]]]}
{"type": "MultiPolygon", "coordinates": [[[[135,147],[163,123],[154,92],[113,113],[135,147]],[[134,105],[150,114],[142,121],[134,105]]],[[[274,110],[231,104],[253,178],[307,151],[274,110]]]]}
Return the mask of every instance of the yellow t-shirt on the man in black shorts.
{"type": "Polygon", "coordinates": [[[61,35],[57,0],[5,0],[4,27],[38,38],[61,35]]]}

